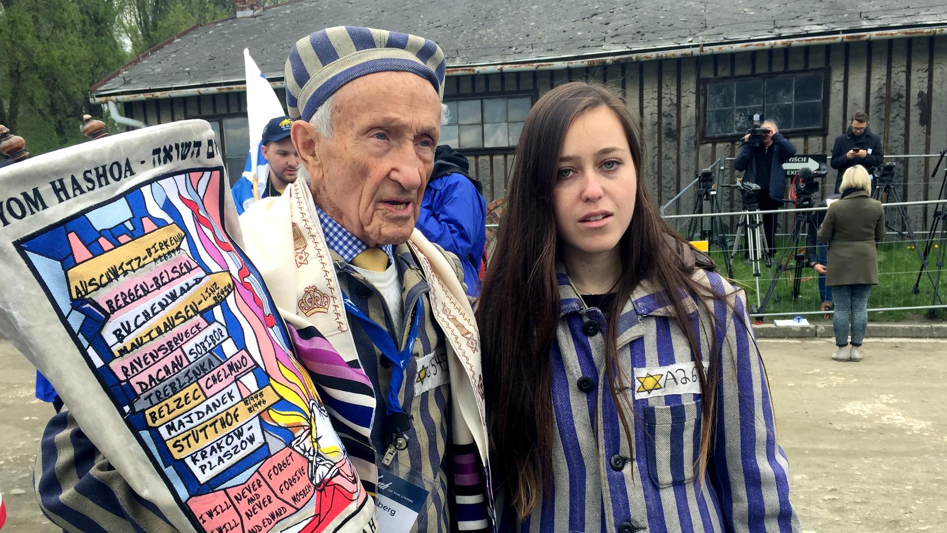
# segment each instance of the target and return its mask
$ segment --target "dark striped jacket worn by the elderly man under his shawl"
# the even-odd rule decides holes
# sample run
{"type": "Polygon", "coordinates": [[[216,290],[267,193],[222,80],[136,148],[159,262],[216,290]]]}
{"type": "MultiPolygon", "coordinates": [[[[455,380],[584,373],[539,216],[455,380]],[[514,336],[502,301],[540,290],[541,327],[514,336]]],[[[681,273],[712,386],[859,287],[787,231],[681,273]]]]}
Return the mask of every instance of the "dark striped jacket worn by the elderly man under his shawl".
{"type": "MultiPolygon", "coordinates": [[[[419,295],[426,295],[429,291],[410,248],[407,245],[387,247],[402,281],[404,323],[395,326],[390,323],[389,313],[378,291],[335,251],[335,248],[342,249],[350,259],[365,249],[365,245],[341,226],[333,227],[335,223],[325,213],[319,214],[342,289],[373,322],[387,324],[389,331],[399,331],[396,340],[401,350],[411,320],[412,309],[407,306],[413,305],[419,295]]],[[[462,279],[463,269],[456,256],[444,253],[452,261],[458,279],[462,279]]],[[[451,442],[448,416],[450,382],[442,382],[440,378],[419,379],[419,374],[428,376],[433,373],[430,370],[432,361],[438,364],[439,371],[439,361],[446,355],[444,334],[434,319],[430,299],[426,296],[423,313],[419,339],[406,367],[399,396],[402,408],[413,417],[413,422],[411,431],[407,433],[408,448],[400,451],[397,459],[406,467],[420,470],[425,479],[434,482],[427,509],[421,511],[414,530],[420,533],[447,533],[457,529],[490,531],[488,477],[480,465],[476,447],[474,444],[459,447],[451,442]],[[432,354],[434,357],[430,357],[432,354]],[[428,370],[420,366],[428,366],[428,370]],[[418,386],[417,381],[421,381],[418,386]],[[428,385],[433,383],[439,384],[428,385]]],[[[381,353],[359,322],[351,315],[348,322],[360,368],[345,365],[341,358],[327,359],[332,352],[321,349],[321,344],[319,349],[313,349],[315,344],[307,341],[320,337],[314,328],[295,330],[290,327],[289,330],[297,355],[307,359],[308,367],[312,368],[314,364],[319,368],[319,372],[311,371],[310,376],[329,411],[333,427],[346,446],[352,465],[359,469],[365,463],[380,462],[388,446],[381,421],[384,420],[383,398],[391,379],[391,368],[380,364],[381,353]],[[370,438],[366,438],[367,434],[370,438]]],[[[443,376],[446,374],[444,361],[443,376]]],[[[361,471],[359,473],[366,489],[374,494],[375,485],[366,480],[361,471]]],[[[66,410],[56,414],[46,425],[33,482],[46,518],[68,533],[176,531],[157,506],[129,487],[66,410]]]]}

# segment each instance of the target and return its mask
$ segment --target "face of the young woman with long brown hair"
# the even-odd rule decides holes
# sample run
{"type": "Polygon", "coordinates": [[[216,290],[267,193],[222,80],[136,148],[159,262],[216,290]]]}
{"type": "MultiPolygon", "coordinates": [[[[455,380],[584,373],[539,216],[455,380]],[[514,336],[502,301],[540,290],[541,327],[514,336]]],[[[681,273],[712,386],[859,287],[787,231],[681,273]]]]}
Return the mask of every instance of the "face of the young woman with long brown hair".
{"type": "Polygon", "coordinates": [[[553,211],[563,252],[611,252],[634,213],[637,173],[625,130],[608,107],[582,113],[563,140],[553,211]]]}

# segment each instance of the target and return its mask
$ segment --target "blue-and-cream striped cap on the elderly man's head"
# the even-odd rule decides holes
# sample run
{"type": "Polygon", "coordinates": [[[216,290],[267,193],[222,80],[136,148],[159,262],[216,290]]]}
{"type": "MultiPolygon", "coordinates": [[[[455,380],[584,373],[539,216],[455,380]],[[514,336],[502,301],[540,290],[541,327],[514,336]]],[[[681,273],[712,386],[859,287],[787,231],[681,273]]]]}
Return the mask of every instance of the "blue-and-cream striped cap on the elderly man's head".
{"type": "Polygon", "coordinates": [[[286,106],[293,119],[315,110],[352,80],[387,71],[412,72],[444,97],[444,52],[417,35],[375,28],[337,26],[296,41],[286,60],[286,106]]]}

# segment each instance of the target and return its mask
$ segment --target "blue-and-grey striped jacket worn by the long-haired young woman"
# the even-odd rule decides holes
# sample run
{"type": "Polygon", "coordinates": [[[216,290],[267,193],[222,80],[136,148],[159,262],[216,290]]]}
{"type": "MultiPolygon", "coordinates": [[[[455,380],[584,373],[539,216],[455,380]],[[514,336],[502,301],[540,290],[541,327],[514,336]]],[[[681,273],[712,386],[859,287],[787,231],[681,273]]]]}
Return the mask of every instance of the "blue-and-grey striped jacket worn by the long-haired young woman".
{"type": "MultiPolygon", "coordinates": [[[[733,287],[713,272],[694,279],[717,294],[733,287]]],[[[634,443],[618,421],[605,377],[606,320],[584,308],[560,265],[561,310],[552,358],[556,435],[552,487],[527,518],[500,510],[500,531],[752,532],[800,530],[789,500],[789,464],[777,444],[762,361],[742,291],[714,303],[717,365],[715,431],[706,475],[700,453],[702,396],[688,340],[661,291],[642,283],[618,320],[617,360],[633,405],[634,443]]],[[[712,321],[693,305],[707,353],[712,321]]],[[[505,500],[501,494],[499,502],[505,500]]]]}

